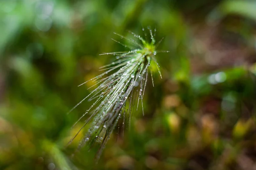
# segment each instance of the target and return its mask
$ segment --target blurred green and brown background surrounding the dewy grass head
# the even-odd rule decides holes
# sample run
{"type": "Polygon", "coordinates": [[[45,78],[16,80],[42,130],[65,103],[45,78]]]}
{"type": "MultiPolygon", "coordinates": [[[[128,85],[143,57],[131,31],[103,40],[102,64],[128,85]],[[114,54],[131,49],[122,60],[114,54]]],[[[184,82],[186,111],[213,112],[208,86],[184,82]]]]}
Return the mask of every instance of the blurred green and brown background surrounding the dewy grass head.
{"type": "Polygon", "coordinates": [[[255,0],[1,0],[1,170],[256,170],[255,0]],[[93,85],[123,51],[113,32],[157,28],[163,79],[145,116],[96,149],[65,147],[93,85]]]}

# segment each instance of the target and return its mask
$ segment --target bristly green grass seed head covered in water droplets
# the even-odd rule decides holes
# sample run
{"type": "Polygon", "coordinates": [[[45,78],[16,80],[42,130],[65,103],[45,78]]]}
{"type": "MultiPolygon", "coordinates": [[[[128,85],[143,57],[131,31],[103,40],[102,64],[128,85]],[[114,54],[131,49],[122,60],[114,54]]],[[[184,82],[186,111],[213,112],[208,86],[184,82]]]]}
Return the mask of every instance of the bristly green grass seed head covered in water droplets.
{"type": "MultiPolygon", "coordinates": [[[[144,28],[143,31],[146,32],[144,28]]],[[[148,36],[150,36],[150,38],[148,38],[150,39],[149,42],[131,31],[130,33],[135,37],[135,40],[114,33],[121,39],[130,42],[131,47],[124,45],[117,40],[112,40],[129,48],[130,51],[100,54],[115,55],[116,61],[102,66],[100,69],[105,72],[88,80],[95,82],[95,85],[90,87],[95,89],[88,96],[84,97],[81,102],[86,99],[89,101],[94,100],[95,102],[93,102],[90,108],[88,108],[73,125],[74,127],[81,118],[87,113],[90,113],[90,117],[84,122],[83,126],[68,144],[76,138],[85,125],[90,124],[89,130],[87,130],[87,133],[84,134],[84,137],[79,143],[78,150],[86,143],[88,143],[89,146],[92,146],[95,142],[100,142],[99,150],[96,153],[96,159],[99,159],[106,142],[110,138],[110,135],[119,120],[123,121],[121,128],[124,130],[125,127],[130,125],[131,116],[135,109],[138,110],[139,103],[142,105],[142,112],[144,115],[143,96],[145,94],[145,87],[148,82],[149,74],[151,75],[153,86],[154,80],[152,72],[154,70],[157,70],[162,78],[156,55],[158,52],[169,52],[157,51],[156,48],[163,38],[156,43],[154,38],[156,28],[152,31],[151,28],[148,27],[148,31],[148,36]]],[[[84,85],[85,83],[86,82],[81,85],[84,85]]],[[[73,107],[70,112],[80,105],[81,102],[73,107]]]]}

